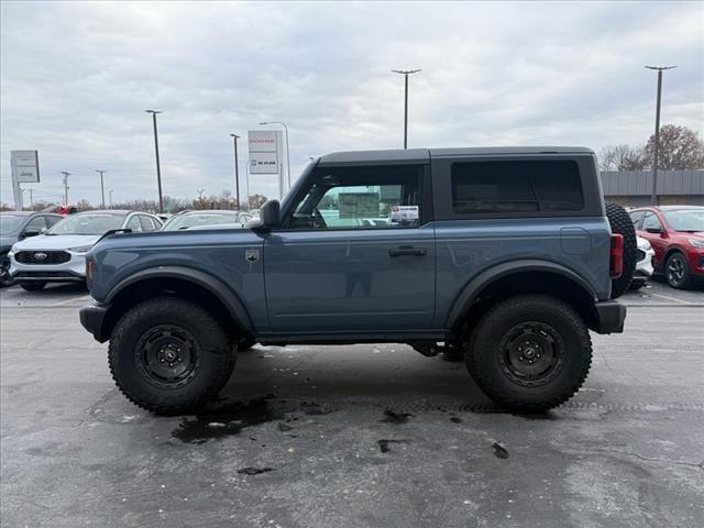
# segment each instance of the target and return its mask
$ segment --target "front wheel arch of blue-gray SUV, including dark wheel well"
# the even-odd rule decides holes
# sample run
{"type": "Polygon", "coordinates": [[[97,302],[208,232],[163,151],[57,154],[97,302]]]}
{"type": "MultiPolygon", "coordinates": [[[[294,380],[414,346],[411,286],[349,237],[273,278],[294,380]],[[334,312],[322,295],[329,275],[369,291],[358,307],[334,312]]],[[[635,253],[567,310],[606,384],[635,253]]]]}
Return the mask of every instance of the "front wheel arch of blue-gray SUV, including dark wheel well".
{"type": "Polygon", "coordinates": [[[199,270],[160,266],[130,275],[110,290],[105,298],[110,309],[102,334],[109,336],[120,317],[136,302],[164,294],[198,304],[218,319],[231,337],[235,332],[253,332],[243,302],[222,280],[199,270]]]}

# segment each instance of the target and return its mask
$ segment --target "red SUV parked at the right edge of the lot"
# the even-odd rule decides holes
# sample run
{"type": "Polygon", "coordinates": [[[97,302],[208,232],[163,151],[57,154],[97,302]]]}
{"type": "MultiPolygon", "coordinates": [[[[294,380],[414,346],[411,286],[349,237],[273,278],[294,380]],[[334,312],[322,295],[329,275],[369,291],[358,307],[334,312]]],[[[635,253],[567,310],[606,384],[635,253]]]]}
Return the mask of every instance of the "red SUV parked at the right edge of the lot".
{"type": "Polygon", "coordinates": [[[638,237],[656,252],[652,267],[673,288],[704,282],[704,207],[642,207],[629,211],[638,237]]]}

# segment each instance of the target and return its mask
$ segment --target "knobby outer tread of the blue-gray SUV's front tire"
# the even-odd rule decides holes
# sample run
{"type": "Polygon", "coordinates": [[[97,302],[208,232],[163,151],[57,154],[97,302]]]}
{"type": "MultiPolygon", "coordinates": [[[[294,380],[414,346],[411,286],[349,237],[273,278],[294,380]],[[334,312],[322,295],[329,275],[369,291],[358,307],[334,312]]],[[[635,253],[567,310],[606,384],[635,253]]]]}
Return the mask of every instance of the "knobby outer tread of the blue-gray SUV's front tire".
{"type": "MultiPolygon", "coordinates": [[[[110,374],[112,375],[112,380],[120,392],[138,407],[158,414],[175,414],[195,409],[206,402],[213,399],[230,380],[234,369],[234,362],[235,355],[232,351],[232,346],[230,345],[230,341],[218,321],[200,306],[178,297],[157,297],[132,307],[116,324],[112,334],[110,336],[110,344],[108,346],[108,364],[110,367],[110,374]],[[157,309],[163,310],[165,308],[180,310],[182,312],[187,311],[188,318],[195,324],[202,326],[205,331],[215,338],[215,341],[218,343],[217,349],[220,349],[217,351],[217,354],[215,354],[218,359],[217,375],[210,381],[208,387],[188,404],[174,405],[173,402],[169,402],[168,395],[158,398],[155,403],[148,403],[146,400],[146,396],[127,392],[122,387],[118,380],[119,376],[116,373],[116,362],[118,359],[117,343],[121,341],[123,334],[138,320],[152,316],[157,309]]],[[[153,399],[153,396],[150,396],[150,399],[153,399]]]]}

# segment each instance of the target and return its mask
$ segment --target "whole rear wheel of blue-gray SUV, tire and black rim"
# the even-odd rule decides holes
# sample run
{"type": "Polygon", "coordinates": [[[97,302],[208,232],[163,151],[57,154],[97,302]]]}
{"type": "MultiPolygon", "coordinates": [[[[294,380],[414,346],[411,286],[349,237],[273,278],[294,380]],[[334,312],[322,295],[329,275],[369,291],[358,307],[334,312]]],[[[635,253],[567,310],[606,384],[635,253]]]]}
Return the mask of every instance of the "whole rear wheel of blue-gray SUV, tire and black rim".
{"type": "Polygon", "coordinates": [[[522,413],[568,400],[592,364],[586,326],[572,307],[528,295],[493,307],[474,330],[466,366],[494,402],[522,413]]]}

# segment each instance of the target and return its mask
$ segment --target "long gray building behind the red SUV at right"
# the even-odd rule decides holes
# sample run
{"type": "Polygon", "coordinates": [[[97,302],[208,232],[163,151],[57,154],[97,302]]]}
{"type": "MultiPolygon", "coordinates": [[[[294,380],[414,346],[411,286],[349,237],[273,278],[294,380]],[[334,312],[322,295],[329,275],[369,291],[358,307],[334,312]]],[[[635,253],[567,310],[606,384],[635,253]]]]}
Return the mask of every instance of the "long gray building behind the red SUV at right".
{"type": "MultiPolygon", "coordinates": [[[[604,198],[622,206],[650,205],[651,170],[602,172],[604,198]]],[[[704,170],[658,170],[661,205],[704,206],[704,170]]]]}

